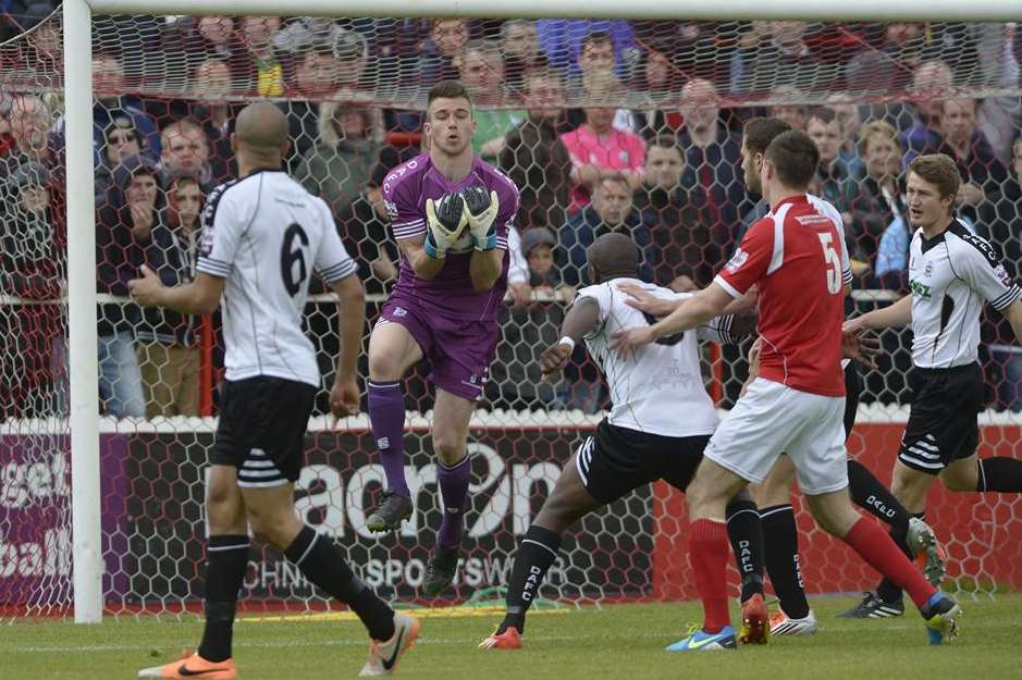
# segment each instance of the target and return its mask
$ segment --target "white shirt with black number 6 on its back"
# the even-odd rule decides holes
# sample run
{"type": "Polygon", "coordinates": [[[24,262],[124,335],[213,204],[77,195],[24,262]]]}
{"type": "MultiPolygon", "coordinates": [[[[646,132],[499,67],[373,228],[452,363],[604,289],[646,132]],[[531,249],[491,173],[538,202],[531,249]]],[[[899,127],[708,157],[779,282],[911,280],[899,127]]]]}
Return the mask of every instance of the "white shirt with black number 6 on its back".
{"type": "Polygon", "coordinates": [[[271,375],[319,386],[301,319],[312,270],[328,284],[357,270],[330,208],[282,171],[261,170],[210,193],[196,269],[224,285],[226,379],[271,375]]]}

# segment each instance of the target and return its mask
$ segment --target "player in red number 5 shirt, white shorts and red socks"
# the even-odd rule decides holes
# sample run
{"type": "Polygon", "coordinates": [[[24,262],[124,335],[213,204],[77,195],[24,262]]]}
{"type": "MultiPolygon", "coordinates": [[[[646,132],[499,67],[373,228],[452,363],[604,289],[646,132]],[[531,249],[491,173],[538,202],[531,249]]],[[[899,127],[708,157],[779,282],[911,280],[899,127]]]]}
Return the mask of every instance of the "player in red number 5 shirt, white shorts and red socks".
{"type": "Polygon", "coordinates": [[[840,359],[851,271],[839,223],[806,195],[818,158],[816,146],[802,132],[775,137],[760,171],[771,212],[750,227],[707,288],[657,323],[619,331],[614,337],[617,351],[635,351],[705,323],[731,298],[752,285],[759,288],[760,375],[711,437],[687,493],[689,559],[705,619],[672,650],[734,647],[725,507],[750,482],[762,483],[781,453],[795,463],[820,527],[909,591],[931,642],[956,633],[958,604],[931,585],[890,536],[854,510],[848,496],[840,359]]]}

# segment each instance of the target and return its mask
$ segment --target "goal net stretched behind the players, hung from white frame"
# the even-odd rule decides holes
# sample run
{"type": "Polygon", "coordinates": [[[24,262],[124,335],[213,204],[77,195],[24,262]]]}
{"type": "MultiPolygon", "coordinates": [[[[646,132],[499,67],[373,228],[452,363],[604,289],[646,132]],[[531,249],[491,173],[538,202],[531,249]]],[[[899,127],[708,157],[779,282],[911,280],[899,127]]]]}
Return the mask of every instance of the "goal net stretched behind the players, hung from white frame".
{"type": "MultiPolygon", "coordinates": [[[[7,616],[57,615],[73,603],[63,196],[83,182],[96,196],[104,610],[180,613],[201,601],[220,320],[143,311],[126,282],[144,263],[168,284],[192,275],[198,213],[209,190],[236,173],[229,139],[246,102],[270,98],[286,112],[287,170],[333,210],[359,262],[369,323],[398,259],[379,188],[419,152],[430,86],[456,77],[469,87],[473,149],[521,191],[514,294],[472,420],[471,509],[445,603],[500,598],[518,541],[607,406],[605,383],[581,349],[556,382],[541,382],[537,364],[559,337],[572,290],[587,283],[587,239],[626,230],[649,280],[679,290],[706,285],[764,211],[742,183],[740,131],[750,118],[783,118],[821,145],[815,190],[846,215],[855,311],[906,290],[898,178],[918,153],[958,160],[969,183],[960,215],[1013,275],[1022,264],[1022,32],[1010,24],[98,16],[94,176],[65,178],[60,15],[11,21],[27,30],[0,45],[7,616]],[[583,166],[613,176],[580,184],[583,166]]],[[[312,293],[306,325],[329,384],[336,306],[321,283],[312,293]]],[[[983,330],[988,408],[980,453],[1022,457],[1022,353],[996,313],[984,316],[983,330]]],[[[849,450],[889,480],[907,418],[910,336],[890,331],[882,339],[886,355],[863,376],[849,450]]],[[[746,378],[747,349],[748,341],[706,345],[701,375],[664,367],[662,379],[700,380],[726,410],[746,378]]],[[[367,418],[333,422],[325,391],[296,484],[301,519],[334,540],[384,598],[416,604],[429,604],[419,585],[441,517],[428,371],[418,366],[403,382],[417,511],[398,533],[367,531],[382,466],[367,418]]],[[[876,574],[795,503],[808,590],[870,586],[876,574]]],[[[928,511],[949,553],[951,590],[1022,588],[1022,502],[940,490],[928,511]]],[[[570,532],[541,596],[562,604],[694,596],[686,524],[680,494],[663,483],[640,489],[570,532]]],[[[329,606],[262,547],[251,552],[243,603],[329,606]]]]}

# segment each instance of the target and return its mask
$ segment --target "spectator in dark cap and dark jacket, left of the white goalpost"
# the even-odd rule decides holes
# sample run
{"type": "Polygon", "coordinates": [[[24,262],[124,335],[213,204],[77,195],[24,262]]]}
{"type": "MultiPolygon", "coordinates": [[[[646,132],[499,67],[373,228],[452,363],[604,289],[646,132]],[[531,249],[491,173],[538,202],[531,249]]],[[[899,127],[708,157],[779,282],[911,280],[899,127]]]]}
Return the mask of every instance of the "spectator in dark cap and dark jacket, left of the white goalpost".
{"type": "MultiPolygon", "coordinates": [[[[0,180],[0,290],[32,300],[60,297],[63,215],[46,166],[25,162],[0,180]]],[[[0,313],[0,422],[52,415],[51,354],[61,341],[57,305],[9,305],[0,313]]],[[[62,341],[61,341],[62,342],[62,341]]]]}

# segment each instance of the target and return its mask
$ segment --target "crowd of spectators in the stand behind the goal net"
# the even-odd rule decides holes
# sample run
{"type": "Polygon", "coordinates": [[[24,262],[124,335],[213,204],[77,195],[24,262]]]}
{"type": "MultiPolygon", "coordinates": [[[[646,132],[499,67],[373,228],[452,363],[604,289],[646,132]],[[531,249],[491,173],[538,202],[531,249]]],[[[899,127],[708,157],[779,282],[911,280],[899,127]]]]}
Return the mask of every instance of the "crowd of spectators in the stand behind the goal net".
{"type": "MultiPolygon", "coordinates": [[[[5,29],[32,32],[0,58],[59,62],[42,35],[48,3],[0,0],[3,9],[5,29]]],[[[561,384],[535,372],[565,302],[590,283],[586,248],[603,233],[626,233],[643,279],[679,292],[707,285],[766,212],[741,176],[741,124],[752,115],[783,118],[816,140],[815,190],[845,217],[857,287],[907,287],[902,171],[919,153],[958,162],[959,214],[1012,274],[1022,265],[1022,32],[1005,25],[206,16],[112,17],[97,34],[97,290],[114,296],[99,310],[98,358],[103,408],[115,417],[199,413],[198,320],[144,313],[116,296],[141,264],[168,285],[190,276],[205,197],[236,173],[230,134],[251,97],[279,98],[292,132],[287,170],[330,205],[368,292],[382,295],[398,254],[380,185],[418,152],[421,125],[420,109],[401,102],[442,78],[469,87],[472,148],[521,191],[504,343],[487,393],[494,406],[603,405],[581,350],[561,384]],[[127,42],[103,39],[132,29],[127,42]],[[1001,91],[959,95],[981,86],[1001,91]],[[858,103],[857,92],[876,88],[897,101],[858,103]]],[[[60,101],[0,92],[0,287],[50,299],[65,242],[60,101]]],[[[29,395],[46,384],[59,394],[65,382],[60,311],[8,309],[0,322],[11,330],[0,336],[29,339],[0,341],[0,371],[17,376],[4,380],[10,394],[0,400],[38,415],[50,405],[29,395]]],[[[996,314],[985,322],[992,398],[1022,410],[1022,354],[1002,326],[996,314]]],[[[323,316],[310,329],[324,336],[329,366],[331,322],[323,316]]],[[[888,342],[891,373],[907,368],[906,342],[888,342]]],[[[741,373],[724,371],[725,396],[741,373]]],[[[899,401],[903,388],[878,375],[866,399],[899,401]]],[[[411,394],[409,406],[424,408],[426,393],[411,394]]]]}

